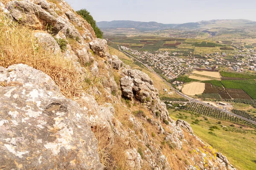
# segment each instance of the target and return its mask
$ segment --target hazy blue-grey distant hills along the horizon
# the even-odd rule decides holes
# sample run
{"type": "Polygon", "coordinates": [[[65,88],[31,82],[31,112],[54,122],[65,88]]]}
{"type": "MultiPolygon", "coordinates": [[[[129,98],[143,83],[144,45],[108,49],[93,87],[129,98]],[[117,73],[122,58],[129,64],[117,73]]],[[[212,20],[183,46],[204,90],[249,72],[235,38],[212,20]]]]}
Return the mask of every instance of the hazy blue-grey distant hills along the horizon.
{"type": "Polygon", "coordinates": [[[97,23],[101,29],[117,29],[117,28],[133,28],[140,31],[154,31],[164,29],[181,29],[181,30],[193,30],[193,29],[208,29],[208,28],[235,28],[244,26],[256,26],[255,21],[250,20],[210,20],[200,21],[196,23],[183,23],[183,24],[162,24],[157,22],[139,22],[139,21],[102,21],[97,23]]]}

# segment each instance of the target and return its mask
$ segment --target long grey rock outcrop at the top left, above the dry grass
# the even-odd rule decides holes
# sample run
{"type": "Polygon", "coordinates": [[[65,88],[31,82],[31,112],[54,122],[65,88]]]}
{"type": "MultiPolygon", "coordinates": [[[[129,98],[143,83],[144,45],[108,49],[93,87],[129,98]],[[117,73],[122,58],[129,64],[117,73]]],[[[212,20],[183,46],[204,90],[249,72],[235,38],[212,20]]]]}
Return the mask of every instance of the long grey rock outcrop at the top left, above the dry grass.
{"type": "Polygon", "coordinates": [[[18,22],[26,23],[26,25],[36,29],[52,26],[52,31],[58,33],[65,25],[64,20],[49,14],[41,8],[41,5],[36,5],[30,1],[13,0],[7,4],[7,9],[18,22]]]}

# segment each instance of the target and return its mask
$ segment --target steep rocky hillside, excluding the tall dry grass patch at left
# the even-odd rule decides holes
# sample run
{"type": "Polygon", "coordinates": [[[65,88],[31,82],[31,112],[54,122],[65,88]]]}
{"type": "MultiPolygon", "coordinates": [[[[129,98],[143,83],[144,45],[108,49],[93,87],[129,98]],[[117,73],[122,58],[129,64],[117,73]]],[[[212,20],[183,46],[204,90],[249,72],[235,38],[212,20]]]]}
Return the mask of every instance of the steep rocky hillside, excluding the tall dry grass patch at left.
{"type": "Polygon", "coordinates": [[[68,91],[65,77],[26,61],[0,65],[2,169],[235,169],[187,122],[170,119],[148,75],[111,56],[67,3],[5,0],[0,7],[6,26],[29,27],[36,46],[79,75],[77,90],[68,91]]]}

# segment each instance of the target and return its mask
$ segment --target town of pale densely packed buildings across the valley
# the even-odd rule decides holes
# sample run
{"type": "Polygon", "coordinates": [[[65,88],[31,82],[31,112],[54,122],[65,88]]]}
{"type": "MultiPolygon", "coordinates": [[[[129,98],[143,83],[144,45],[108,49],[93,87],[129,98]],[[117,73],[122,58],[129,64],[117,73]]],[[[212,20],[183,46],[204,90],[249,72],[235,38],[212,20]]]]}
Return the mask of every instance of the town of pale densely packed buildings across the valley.
{"type": "MultiPolygon", "coordinates": [[[[253,49],[233,52],[233,57],[230,56],[230,54],[228,54],[229,57],[227,57],[226,53],[215,52],[212,54],[205,54],[204,57],[189,55],[187,58],[180,58],[175,57],[180,55],[177,52],[169,53],[167,51],[156,51],[150,53],[147,51],[132,50],[124,46],[121,46],[121,48],[154,68],[158,74],[165,75],[168,79],[175,79],[180,74],[186,74],[193,68],[200,68],[201,66],[204,66],[206,69],[211,69],[212,65],[223,65],[228,68],[229,71],[256,71],[256,51],[253,49]]],[[[179,85],[180,82],[175,82],[175,84],[179,85]]]]}

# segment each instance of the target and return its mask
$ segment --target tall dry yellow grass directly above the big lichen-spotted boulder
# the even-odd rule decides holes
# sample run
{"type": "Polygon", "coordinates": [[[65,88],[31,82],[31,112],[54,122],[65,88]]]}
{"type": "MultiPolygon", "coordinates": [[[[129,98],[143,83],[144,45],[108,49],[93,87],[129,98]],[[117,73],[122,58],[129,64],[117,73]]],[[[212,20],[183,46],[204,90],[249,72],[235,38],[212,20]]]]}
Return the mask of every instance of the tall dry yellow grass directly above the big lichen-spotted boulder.
{"type": "Polygon", "coordinates": [[[73,62],[38,47],[32,29],[9,23],[3,15],[0,20],[0,66],[29,65],[49,75],[65,96],[72,98],[80,94],[81,75],[73,62]]]}

